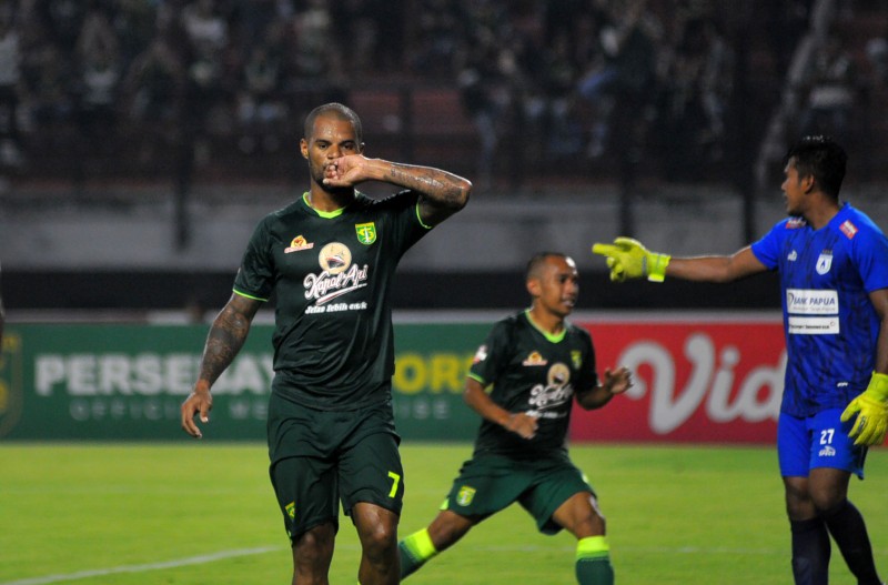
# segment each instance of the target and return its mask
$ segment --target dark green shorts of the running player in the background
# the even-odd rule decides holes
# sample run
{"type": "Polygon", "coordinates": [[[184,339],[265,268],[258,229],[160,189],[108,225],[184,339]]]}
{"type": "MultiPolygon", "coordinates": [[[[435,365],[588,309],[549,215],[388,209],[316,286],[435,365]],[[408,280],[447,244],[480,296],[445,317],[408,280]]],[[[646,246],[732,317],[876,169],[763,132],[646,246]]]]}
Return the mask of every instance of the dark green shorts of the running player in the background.
{"type": "Polygon", "coordinates": [[[517,461],[481,455],[463,463],[441,508],[483,521],[517,502],[536,520],[539,532],[556,534],[562,527],[552,515],[581,492],[595,495],[583,472],[566,457],[517,461]]]}

